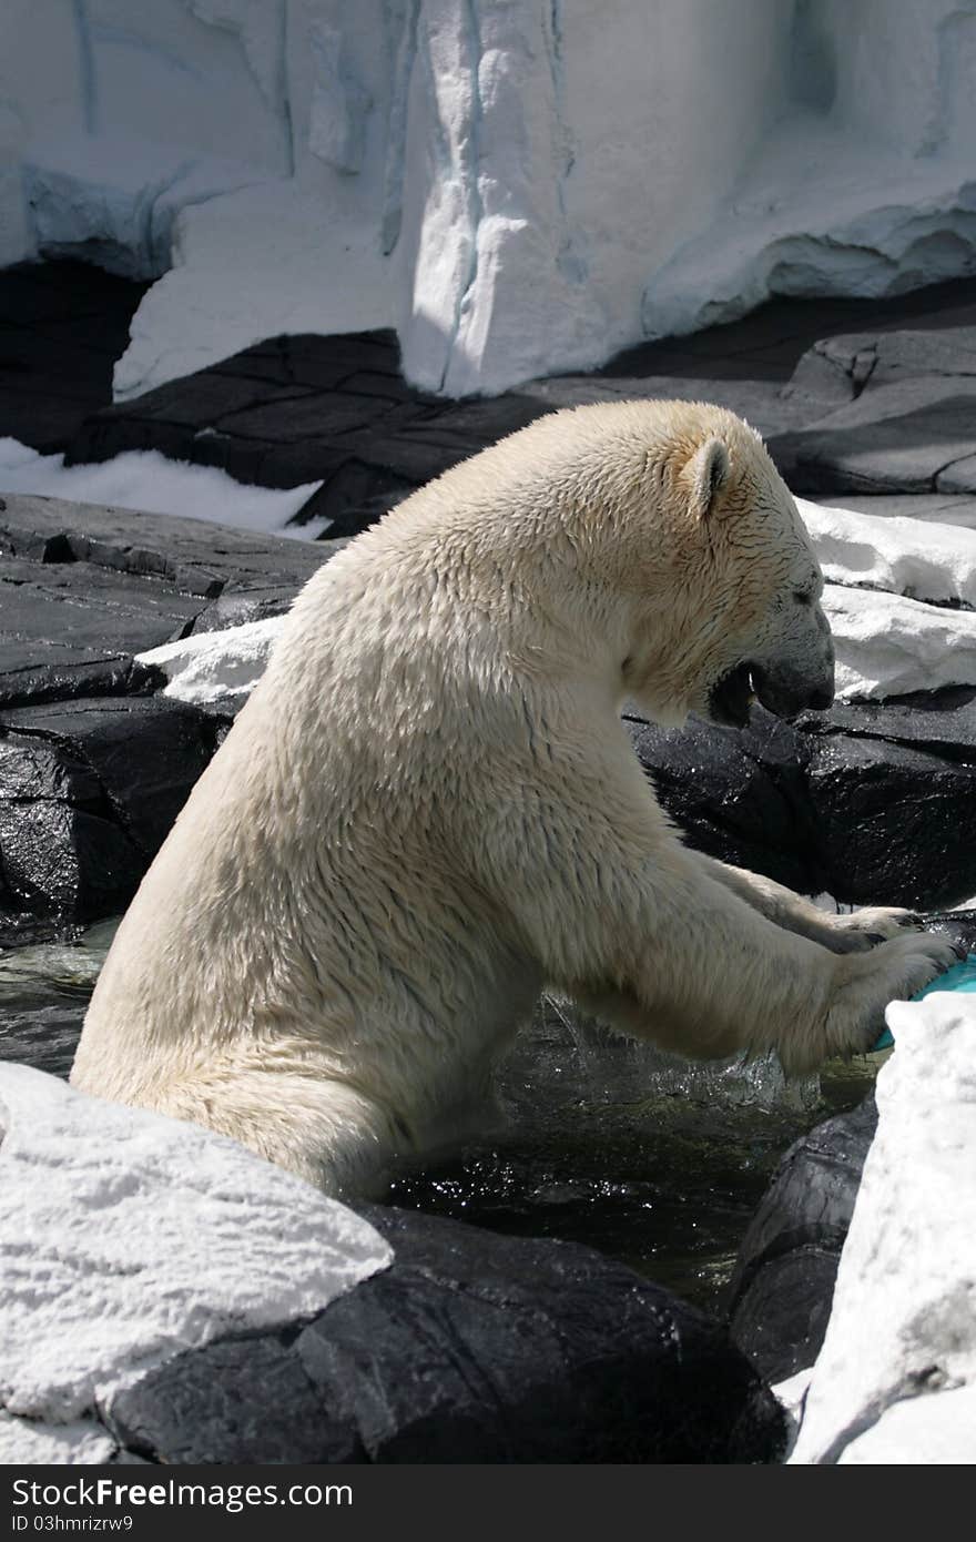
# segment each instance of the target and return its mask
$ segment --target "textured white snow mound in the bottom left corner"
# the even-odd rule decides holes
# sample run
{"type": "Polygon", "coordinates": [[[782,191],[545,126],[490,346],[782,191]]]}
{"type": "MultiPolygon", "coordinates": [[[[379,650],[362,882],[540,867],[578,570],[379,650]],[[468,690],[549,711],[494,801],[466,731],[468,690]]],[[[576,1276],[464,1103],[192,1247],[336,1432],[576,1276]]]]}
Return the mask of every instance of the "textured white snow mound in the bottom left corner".
{"type": "MultiPolygon", "coordinates": [[[[319,1312],[392,1258],[234,1141],[43,1072],[0,1067],[0,1402],[65,1442],[97,1448],[79,1420],[148,1366],[319,1312]]],[[[3,1448],[39,1460],[35,1426],[14,1434],[0,1425],[3,1448]]]]}

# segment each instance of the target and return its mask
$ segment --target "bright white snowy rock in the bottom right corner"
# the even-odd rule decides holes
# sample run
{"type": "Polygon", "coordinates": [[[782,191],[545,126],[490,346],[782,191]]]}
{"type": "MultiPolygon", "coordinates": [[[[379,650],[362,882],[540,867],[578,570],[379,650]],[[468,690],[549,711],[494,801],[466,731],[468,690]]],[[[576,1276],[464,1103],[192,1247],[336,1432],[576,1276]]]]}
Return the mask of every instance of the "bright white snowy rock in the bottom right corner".
{"type": "Polygon", "coordinates": [[[794,1463],[976,1460],[976,1002],[887,1010],[896,1050],[794,1463]]]}

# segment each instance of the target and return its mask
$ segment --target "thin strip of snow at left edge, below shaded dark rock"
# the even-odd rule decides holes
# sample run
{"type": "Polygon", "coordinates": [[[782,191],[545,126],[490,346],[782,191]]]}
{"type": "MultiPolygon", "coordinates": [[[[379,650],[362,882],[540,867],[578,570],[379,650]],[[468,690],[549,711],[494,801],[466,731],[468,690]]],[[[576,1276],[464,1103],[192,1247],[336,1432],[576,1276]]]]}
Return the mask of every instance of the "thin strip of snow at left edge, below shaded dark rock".
{"type": "Polygon", "coordinates": [[[76,503],[106,503],[145,513],[233,524],[242,530],[315,540],[328,520],[288,526],[321,483],[284,492],[250,487],[213,466],[170,461],[159,450],[126,450],[93,466],[65,466],[63,455],[40,455],[17,439],[0,439],[0,493],[29,492],[76,503]]]}

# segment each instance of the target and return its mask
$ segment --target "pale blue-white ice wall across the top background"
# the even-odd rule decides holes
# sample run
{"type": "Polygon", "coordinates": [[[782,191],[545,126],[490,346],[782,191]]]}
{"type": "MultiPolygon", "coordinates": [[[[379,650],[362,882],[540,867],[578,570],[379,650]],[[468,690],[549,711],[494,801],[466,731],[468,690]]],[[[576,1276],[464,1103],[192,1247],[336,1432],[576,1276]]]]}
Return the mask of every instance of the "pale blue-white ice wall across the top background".
{"type": "Polygon", "coordinates": [[[133,395],[396,325],[449,395],[976,270],[976,0],[6,0],[0,262],[160,282],[133,395]]]}

